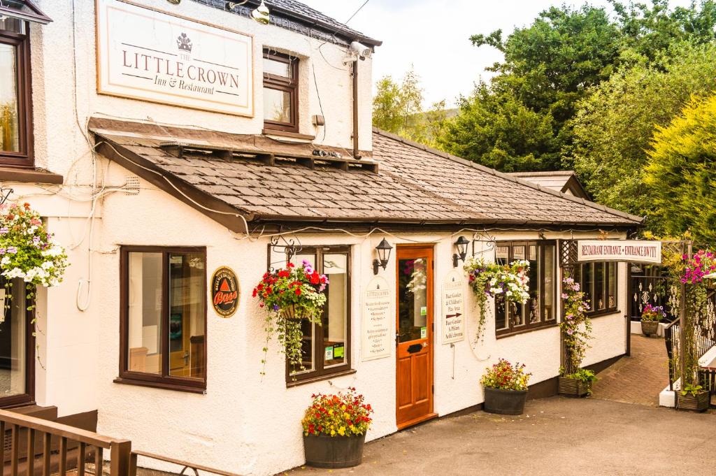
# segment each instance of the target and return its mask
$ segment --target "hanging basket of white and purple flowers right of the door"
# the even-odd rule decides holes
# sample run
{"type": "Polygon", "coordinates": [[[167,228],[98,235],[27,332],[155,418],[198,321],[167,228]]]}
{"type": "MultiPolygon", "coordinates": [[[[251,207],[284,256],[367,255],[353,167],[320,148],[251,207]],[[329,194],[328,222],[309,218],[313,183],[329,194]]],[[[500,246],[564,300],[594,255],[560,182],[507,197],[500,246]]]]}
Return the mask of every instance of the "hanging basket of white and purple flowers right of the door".
{"type": "Polygon", "coordinates": [[[524,304],[530,297],[528,272],[529,261],[518,260],[510,264],[488,263],[482,258],[470,258],[465,262],[470,287],[473,288],[478,306],[480,322],[477,340],[482,339],[487,320],[487,300],[502,295],[505,303],[524,304]]]}

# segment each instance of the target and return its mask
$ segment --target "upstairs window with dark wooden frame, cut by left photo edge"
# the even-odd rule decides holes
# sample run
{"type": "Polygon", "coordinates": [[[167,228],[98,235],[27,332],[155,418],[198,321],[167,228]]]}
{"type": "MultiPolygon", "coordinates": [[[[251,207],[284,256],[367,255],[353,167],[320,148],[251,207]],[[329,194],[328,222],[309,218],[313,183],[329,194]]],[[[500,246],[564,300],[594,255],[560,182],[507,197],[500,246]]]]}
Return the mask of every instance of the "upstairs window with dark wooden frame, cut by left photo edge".
{"type": "Polygon", "coordinates": [[[29,24],[6,16],[0,19],[0,165],[34,165],[31,98],[29,24]]]}

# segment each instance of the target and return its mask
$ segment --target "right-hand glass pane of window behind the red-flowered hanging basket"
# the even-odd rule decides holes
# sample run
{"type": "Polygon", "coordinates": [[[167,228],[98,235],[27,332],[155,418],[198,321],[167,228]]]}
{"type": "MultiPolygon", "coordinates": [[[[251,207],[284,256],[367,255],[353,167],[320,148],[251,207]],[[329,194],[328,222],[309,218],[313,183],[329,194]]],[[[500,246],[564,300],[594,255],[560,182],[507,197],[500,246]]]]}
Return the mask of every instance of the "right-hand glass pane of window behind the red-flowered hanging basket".
{"type": "Polygon", "coordinates": [[[328,313],[323,324],[324,367],[346,363],[348,311],[348,256],[326,254],[323,272],[328,276],[328,313]]]}

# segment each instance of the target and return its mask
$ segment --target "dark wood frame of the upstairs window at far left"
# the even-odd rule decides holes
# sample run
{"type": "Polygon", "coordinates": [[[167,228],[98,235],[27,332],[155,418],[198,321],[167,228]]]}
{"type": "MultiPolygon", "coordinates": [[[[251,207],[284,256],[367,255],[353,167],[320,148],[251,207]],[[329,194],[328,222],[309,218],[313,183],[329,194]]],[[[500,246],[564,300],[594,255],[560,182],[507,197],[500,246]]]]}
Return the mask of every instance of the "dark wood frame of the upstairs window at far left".
{"type": "Polygon", "coordinates": [[[34,165],[29,27],[29,24],[26,23],[26,34],[0,30],[0,43],[10,44],[16,48],[19,152],[0,151],[0,164],[14,167],[32,167],[34,165]]]}

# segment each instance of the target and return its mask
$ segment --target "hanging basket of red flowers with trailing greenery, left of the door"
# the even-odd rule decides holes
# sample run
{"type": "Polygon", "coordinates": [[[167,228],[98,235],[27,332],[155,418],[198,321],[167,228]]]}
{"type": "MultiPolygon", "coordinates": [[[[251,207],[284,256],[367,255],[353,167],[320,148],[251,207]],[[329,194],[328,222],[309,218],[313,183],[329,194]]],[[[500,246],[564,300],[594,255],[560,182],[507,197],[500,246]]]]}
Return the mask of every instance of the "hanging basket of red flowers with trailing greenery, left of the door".
{"type": "MultiPolygon", "coordinates": [[[[288,263],[286,268],[263,275],[261,282],[253,288],[253,297],[258,298],[261,301],[258,306],[266,310],[266,346],[261,361],[264,366],[269,342],[275,334],[289,366],[304,370],[301,321],[306,319],[321,325],[326,286],[328,278],[316,272],[308,261],[298,267],[288,263]]],[[[261,374],[264,374],[263,370],[261,374]]]]}

